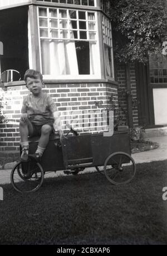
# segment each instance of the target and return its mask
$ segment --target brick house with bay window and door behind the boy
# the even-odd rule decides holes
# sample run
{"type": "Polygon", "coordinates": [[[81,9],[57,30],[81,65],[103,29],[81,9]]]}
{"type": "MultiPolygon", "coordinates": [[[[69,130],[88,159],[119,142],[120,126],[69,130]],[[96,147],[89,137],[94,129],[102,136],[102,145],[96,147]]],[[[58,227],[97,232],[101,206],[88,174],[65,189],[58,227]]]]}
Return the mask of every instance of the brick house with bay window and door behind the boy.
{"type": "Polygon", "coordinates": [[[153,113],[160,97],[154,88],[164,88],[165,83],[165,73],[163,83],[161,73],[156,75],[154,60],[150,59],[150,72],[142,64],[114,65],[108,4],[104,0],[0,0],[0,92],[8,119],[0,125],[1,151],[19,150],[18,121],[27,94],[23,74],[28,68],[41,70],[44,90],[56,102],[65,130],[70,122],[80,133],[106,131],[102,109],[111,98],[115,106],[120,101],[125,122],[128,110],[131,127],[167,122],[153,113]],[[151,85],[149,79],[154,81],[151,85]],[[130,94],[118,99],[122,89],[130,94]],[[102,106],[97,108],[95,102],[102,106]]]}

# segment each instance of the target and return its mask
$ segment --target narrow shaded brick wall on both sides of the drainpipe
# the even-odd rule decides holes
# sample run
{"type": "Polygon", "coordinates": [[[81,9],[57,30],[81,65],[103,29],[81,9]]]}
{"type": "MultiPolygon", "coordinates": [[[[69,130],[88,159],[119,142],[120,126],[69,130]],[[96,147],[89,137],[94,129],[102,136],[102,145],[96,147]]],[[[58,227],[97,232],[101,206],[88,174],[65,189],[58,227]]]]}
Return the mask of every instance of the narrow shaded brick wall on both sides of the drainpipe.
{"type": "MultiPolygon", "coordinates": [[[[126,73],[125,65],[116,64],[116,80],[119,83],[118,87],[118,97],[119,105],[121,106],[119,110],[119,115],[121,116],[124,123],[127,123],[127,96],[126,90],[126,73]]],[[[139,126],[138,123],[138,110],[137,110],[137,92],[136,92],[136,76],[135,76],[135,64],[130,64],[130,87],[131,87],[131,97],[132,97],[132,118],[133,126],[139,126]]]]}

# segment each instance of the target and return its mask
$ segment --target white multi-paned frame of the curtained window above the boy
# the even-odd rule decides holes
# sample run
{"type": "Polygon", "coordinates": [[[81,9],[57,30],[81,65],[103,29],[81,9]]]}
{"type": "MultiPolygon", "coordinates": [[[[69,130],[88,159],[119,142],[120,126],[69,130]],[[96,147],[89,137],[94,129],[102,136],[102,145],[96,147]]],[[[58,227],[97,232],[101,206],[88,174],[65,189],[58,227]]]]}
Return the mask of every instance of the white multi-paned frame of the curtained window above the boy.
{"type": "MultiPolygon", "coordinates": [[[[99,63],[98,63],[98,74],[85,74],[85,75],[82,75],[82,74],[78,74],[78,75],[70,75],[70,74],[63,74],[63,75],[45,75],[43,74],[43,79],[46,79],[46,80],[54,80],[54,79],[58,79],[58,80],[63,80],[63,79],[73,79],[73,80],[76,80],[76,79],[101,79],[102,78],[102,75],[101,75],[101,63],[100,63],[100,44],[99,44],[99,26],[98,26],[98,15],[97,15],[97,11],[92,11],[92,10],[78,10],[76,8],[64,8],[63,6],[61,7],[54,7],[54,6],[37,6],[37,30],[38,30],[38,46],[39,46],[39,53],[40,53],[40,70],[42,72],[42,55],[41,55],[41,36],[40,36],[40,17],[39,16],[39,8],[46,8],[47,9],[47,20],[49,20],[49,17],[48,17],[48,9],[58,9],[58,10],[72,10],[72,11],[76,11],[78,13],[78,11],[83,11],[83,12],[86,12],[86,24],[88,23],[88,20],[87,20],[87,13],[88,12],[92,12],[92,13],[95,13],[95,30],[96,31],[96,40],[84,40],[84,39],[81,39],[81,40],[73,40],[73,41],[96,41],[96,47],[97,47],[97,51],[98,51],[98,55],[99,57],[97,57],[97,59],[99,60],[99,63]]],[[[67,12],[68,12],[67,11],[67,12]]],[[[77,16],[78,17],[78,16],[77,16]]],[[[68,17],[67,17],[68,18],[68,17]]],[[[63,18],[61,18],[62,20],[63,18]]],[[[57,19],[58,20],[58,19],[57,19]]],[[[76,21],[78,22],[79,20],[76,19],[76,21]]],[[[59,25],[58,25],[59,27],[59,25]]],[[[49,27],[47,27],[48,30],[50,29],[49,27]]],[[[68,30],[70,30],[68,28],[68,30]]],[[[80,31],[80,30],[78,30],[80,31]]],[[[87,30],[86,30],[87,31],[87,30]]],[[[87,31],[89,32],[89,31],[87,31]]],[[[48,39],[49,40],[49,39],[48,39]]],[[[69,40],[69,39],[55,39],[55,40],[69,40]]]]}

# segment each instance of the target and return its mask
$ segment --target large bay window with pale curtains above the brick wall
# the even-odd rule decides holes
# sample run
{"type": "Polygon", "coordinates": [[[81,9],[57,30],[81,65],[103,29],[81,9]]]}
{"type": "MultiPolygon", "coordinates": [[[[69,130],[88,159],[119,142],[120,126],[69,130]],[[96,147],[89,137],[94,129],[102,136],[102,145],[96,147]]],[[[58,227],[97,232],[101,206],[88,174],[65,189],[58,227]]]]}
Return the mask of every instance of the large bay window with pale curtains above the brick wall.
{"type": "Polygon", "coordinates": [[[17,72],[23,79],[28,68],[41,70],[44,79],[113,79],[111,22],[100,2],[37,2],[1,10],[0,73],[14,70],[11,81],[17,72]]]}

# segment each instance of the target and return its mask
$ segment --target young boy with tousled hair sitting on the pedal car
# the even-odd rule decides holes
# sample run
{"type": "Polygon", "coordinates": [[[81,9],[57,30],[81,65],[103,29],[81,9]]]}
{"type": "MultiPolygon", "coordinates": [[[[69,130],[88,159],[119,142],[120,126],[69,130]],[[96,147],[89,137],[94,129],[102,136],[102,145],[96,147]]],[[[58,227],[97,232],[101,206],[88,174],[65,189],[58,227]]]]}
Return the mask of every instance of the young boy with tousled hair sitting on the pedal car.
{"type": "Polygon", "coordinates": [[[28,136],[41,135],[38,148],[33,157],[40,160],[49,141],[51,132],[57,127],[60,139],[62,130],[60,116],[53,99],[42,92],[42,74],[36,70],[28,69],[24,74],[26,87],[31,92],[23,100],[19,131],[21,135],[21,146],[23,161],[28,160],[28,136]]]}

